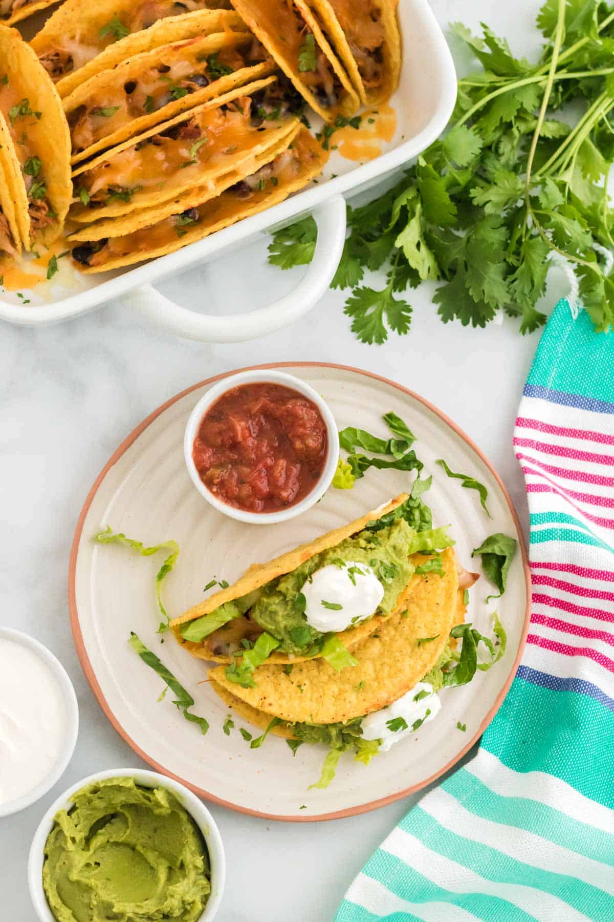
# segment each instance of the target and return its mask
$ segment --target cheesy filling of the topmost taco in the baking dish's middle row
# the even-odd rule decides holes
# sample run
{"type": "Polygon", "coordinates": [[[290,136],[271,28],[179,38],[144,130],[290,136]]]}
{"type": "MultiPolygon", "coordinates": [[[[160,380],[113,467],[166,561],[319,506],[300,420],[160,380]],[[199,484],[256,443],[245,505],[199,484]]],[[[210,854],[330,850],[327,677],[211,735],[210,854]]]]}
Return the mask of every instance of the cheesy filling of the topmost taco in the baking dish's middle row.
{"type": "MultiPolygon", "coordinates": [[[[39,58],[41,65],[53,80],[78,70],[101,51],[120,41],[126,35],[149,29],[158,19],[180,16],[195,9],[211,9],[214,4],[208,0],[135,0],[129,10],[113,13],[109,22],[103,24],[95,37],[82,38],[74,35],[53,35],[45,42],[39,58]]],[[[220,2],[217,6],[226,6],[220,2]]],[[[51,21],[51,20],[50,20],[51,21]]]]}

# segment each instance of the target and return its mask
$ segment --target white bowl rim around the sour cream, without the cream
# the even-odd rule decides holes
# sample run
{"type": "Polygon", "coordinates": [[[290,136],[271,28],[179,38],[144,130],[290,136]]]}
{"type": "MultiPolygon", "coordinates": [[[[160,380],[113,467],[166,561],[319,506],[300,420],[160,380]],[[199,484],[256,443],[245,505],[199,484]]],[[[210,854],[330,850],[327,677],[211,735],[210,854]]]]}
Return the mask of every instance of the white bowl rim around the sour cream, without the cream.
{"type": "Polygon", "coordinates": [[[35,656],[39,657],[57,682],[58,688],[64,699],[66,715],[64,739],[62,740],[58,757],[53,763],[49,774],[45,775],[39,784],[27,791],[26,794],[22,794],[21,797],[9,800],[4,804],[0,804],[0,817],[3,817],[10,816],[12,813],[17,813],[19,810],[25,810],[26,807],[29,807],[36,800],[43,797],[56,781],[59,781],[62,777],[75,751],[76,737],[79,731],[79,707],[76,703],[73,683],[68,678],[68,673],[64,669],[64,666],[59,659],[53,656],[51,650],[48,650],[47,647],[43,646],[38,640],[30,637],[29,634],[15,631],[13,628],[0,627],[0,640],[9,640],[14,644],[21,644],[35,656]]]}

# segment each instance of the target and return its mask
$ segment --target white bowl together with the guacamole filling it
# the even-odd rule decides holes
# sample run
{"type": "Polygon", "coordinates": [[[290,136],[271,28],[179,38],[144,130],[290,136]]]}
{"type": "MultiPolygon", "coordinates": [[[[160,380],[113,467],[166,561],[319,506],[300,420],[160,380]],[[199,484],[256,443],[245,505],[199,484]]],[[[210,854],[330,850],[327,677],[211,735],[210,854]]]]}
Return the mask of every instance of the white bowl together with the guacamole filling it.
{"type": "Polygon", "coordinates": [[[163,774],[110,769],[70,787],[29,851],[41,922],[211,922],[226,858],[199,798],[163,774]]]}

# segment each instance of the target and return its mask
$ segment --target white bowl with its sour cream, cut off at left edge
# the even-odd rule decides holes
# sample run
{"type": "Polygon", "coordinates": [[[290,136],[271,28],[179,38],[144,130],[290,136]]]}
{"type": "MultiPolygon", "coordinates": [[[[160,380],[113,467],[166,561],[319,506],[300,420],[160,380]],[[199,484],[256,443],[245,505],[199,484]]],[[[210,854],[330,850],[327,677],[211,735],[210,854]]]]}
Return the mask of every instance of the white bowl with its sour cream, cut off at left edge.
{"type": "Polygon", "coordinates": [[[28,634],[0,627],[0,817],[59,780],[78,728],[75,689],[60,661],[28,634]]]}

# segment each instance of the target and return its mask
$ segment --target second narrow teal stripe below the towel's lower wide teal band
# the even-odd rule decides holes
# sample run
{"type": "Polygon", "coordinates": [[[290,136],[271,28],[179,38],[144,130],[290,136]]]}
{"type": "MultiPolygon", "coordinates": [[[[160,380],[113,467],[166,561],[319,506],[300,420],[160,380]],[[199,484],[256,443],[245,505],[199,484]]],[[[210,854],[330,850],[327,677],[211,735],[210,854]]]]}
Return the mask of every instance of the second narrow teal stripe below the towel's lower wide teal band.
{"type": "Polygon", "coordinates": [[[464,835],[451,833],[420,806],[414,807],[401,820],[400,828],[421,839],[427,848],[464,865],[487,881],[516,885],[521,883],[525,887],[550,893],[578,912],[585,913],[594,922],[612,922],[614,919],[614,898],[603,890],[569,874],[556,874],[535,868],[490,845],[482,845],[464,835]]]}

